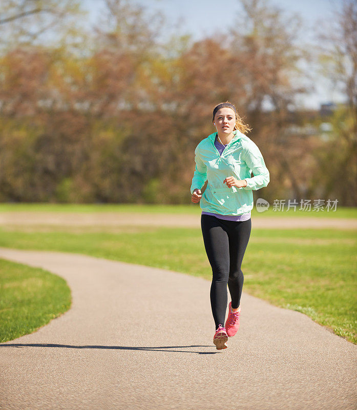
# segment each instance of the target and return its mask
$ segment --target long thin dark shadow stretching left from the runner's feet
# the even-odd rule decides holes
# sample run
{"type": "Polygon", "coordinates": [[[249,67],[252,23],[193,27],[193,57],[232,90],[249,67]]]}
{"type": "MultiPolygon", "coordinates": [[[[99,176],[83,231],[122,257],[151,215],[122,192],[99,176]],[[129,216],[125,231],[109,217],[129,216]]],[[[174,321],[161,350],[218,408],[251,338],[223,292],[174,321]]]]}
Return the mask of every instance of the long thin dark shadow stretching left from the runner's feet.
{"type": "Polygon", "coordinates": [[[72,349],[117,349],[117,350],[142,350],[153,352],[178,352],[178,353],[197,353],[199,355],[214,355],[218,352],[191,352],[188,350],[171,350],[174,348],[184,347],[213,347],[211,345],[192,344],[189,346],[157,346],[157,347],[136,347],[136,346],[97,346],[97,345],[83,345],[72,346],[70,344],[54,344],[54,343],[8,343],[0,344],[0,347],[67,347],[72,349]],[[170,349],[170,350],[167,350],[170,349]]]}

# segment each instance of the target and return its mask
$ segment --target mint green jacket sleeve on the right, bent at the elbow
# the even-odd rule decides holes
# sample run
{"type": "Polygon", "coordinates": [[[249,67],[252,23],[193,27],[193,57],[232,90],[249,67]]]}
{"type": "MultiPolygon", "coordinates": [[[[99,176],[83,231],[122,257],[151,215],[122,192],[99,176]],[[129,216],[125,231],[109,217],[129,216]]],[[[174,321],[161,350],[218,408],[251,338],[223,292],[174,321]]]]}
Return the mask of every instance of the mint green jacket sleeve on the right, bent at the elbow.
{"type": "Polygon", "coordinates": [[[254,175],[253,178],[244,178],[248,185],[243,189],[257,190],[266,187],[270,181],[269,171],[255,142],[249,141],[249,144],[244,144],[243,159],[254,175]]]}

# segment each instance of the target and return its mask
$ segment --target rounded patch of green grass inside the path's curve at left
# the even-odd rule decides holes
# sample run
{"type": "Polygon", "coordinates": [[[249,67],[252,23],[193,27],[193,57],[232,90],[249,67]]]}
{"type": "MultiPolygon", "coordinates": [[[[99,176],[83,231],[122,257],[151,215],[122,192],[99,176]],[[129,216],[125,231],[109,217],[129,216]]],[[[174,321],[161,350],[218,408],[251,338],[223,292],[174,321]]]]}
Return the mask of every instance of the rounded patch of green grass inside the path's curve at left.
{"type": "Polygon", "coordinates": [[[71,291],[64,279],[0,259],[0,342],[34,332],[70,305],[71,291]]]}

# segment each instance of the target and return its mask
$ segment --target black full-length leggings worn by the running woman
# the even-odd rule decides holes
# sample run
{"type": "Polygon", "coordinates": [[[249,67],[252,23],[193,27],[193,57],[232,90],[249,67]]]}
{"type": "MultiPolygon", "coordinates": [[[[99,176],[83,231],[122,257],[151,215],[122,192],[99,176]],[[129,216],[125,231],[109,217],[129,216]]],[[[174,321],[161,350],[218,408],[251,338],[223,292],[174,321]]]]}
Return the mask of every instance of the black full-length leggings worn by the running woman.
{"type": "Polygon", "coordinates": [[[201,215],[204,247],[212,267],[211,307],[216,328],[224,326],[227,309],[227,283],[232,308],[238,308],[243,288],[241,270],[244,252],[248,245],[251,219],[227,221],[213,215],[201,215]]]}

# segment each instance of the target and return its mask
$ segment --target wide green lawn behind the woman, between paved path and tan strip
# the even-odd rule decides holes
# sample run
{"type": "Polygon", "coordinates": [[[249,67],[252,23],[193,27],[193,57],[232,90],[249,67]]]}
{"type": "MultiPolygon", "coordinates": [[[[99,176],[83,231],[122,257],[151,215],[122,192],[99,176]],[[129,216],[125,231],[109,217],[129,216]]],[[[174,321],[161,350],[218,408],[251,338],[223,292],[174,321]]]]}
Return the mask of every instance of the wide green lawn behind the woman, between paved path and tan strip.
{"type": "MultiPolygon", "coordinates": [[[[0,230],[0,246],[74,252],[211,278],[199,229],[118,233],[0,230]]],[[[350,230],[253,229],[244,291],[298,310],[357,343],[357,235],[350,230]]]]}

